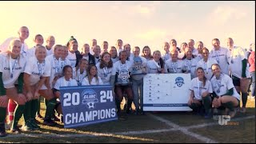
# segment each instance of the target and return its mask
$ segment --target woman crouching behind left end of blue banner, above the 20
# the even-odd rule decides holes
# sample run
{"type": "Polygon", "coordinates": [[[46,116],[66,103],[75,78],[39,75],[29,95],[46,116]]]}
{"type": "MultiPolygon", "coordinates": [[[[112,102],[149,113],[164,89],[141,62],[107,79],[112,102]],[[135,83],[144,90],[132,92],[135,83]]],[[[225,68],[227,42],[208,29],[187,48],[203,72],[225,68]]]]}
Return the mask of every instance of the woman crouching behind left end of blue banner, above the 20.
{"type": "MultiPolygon", "coordinates": [[[[73,70],[72,67],[70,65],[66,65],[63,67],[63,77],[62,78],[58,78],[57,82],[54,85],[54,96],[55,98],[60,98],[61,97],[61,92],[60,87],[62,86],[78,86],[78,82],[73,79],[73,70]]],[[[61,102],[57,102],[56,103],[56,111],[58,112],[58,114],[62,114],[62,106],[60,105],[61,102]]]]}

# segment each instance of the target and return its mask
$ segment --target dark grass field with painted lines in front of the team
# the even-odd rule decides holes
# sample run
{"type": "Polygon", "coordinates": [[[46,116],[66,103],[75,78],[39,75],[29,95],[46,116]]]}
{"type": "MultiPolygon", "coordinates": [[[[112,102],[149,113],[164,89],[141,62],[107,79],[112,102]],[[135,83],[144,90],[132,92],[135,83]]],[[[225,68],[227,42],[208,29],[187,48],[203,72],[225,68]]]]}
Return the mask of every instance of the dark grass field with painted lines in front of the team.
{"type": "MultiPolygon", "coordinates": [[[[41,103],[41,114],[45,106],[41,103]]],[[[41,130],[11,134],[0,138],[2,142],[255,142],[255,101],[248,99],[246,114],[237,113],[222,126],[214,119],[204,119],[190,112],[146,112],[145,115],[129,114],[126,120],[98,123],[72,129],[43,126],[41,130]]],[[[22,120],[20,122],[22,124],[22,120]]]]}

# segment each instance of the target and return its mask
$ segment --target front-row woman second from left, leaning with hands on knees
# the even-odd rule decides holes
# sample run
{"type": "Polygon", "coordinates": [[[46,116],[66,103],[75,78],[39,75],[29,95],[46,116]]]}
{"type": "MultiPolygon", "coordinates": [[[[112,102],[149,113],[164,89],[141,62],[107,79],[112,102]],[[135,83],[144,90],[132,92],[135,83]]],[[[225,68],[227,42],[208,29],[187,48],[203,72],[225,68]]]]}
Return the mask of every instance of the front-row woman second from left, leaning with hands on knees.
{"type": "MultiPolygon", "coordinates": [[[[46,47],[36,46],[34,57],[28,58],[24,70],[24,86],[27,98],[23,130],[38,130],[40,126],[35,122],[35,115],[38,110],[39,90],[46,78],[50,77],[51,64],[46,58],[46,47]]],[[[46,107],[47,109],[47,107],[46,107]]],[[[16,126],[15,126],[16,127],[16,126]]]]}

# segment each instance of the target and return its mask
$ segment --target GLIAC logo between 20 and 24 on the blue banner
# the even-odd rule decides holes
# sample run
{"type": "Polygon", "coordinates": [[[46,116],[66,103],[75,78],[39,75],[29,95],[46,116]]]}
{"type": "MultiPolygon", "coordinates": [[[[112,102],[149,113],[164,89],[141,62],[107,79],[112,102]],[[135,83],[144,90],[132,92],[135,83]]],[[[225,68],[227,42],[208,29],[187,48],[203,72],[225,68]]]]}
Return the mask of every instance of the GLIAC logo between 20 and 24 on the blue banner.
{"type": "Polygon", "coordinates": [[[94,90],[86,89],[82,91],[82,104],[86,105],[88,109],[94,109],[96,102],[98,102],[98,98],[94,90]]]}

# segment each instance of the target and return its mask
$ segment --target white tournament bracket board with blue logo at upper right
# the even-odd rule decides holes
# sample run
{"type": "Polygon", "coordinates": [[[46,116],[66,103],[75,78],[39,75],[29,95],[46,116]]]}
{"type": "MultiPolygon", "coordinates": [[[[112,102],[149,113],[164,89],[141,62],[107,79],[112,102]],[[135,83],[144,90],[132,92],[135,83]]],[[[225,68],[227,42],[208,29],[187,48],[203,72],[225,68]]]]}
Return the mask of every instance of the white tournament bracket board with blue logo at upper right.
{"type": "Polygon", "coordinates": [[[143,79],[144,111],[191,111],[190,74],[146,74],[143,79]]]}

